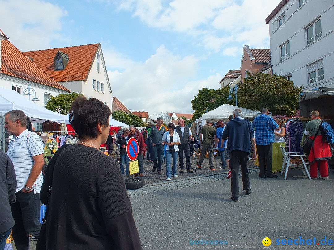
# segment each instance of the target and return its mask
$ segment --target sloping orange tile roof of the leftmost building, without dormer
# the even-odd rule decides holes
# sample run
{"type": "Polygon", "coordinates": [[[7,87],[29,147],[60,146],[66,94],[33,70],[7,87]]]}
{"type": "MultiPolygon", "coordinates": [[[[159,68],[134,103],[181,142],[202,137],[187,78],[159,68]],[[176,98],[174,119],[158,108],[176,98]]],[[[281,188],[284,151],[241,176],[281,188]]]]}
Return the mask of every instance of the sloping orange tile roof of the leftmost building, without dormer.
{"type": "Polygon", "coordinates": [[[0,73],[70,92],[48,76],[8,40],[1,41],[0,73]]]}

